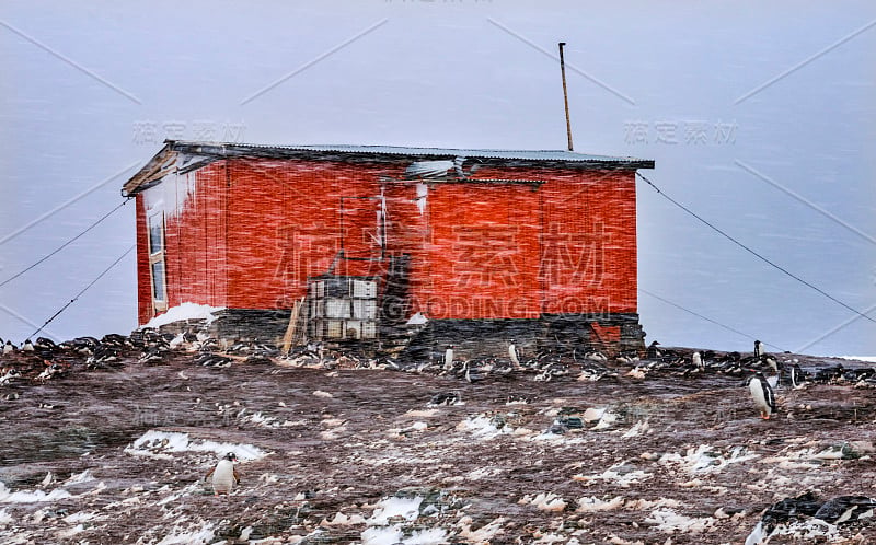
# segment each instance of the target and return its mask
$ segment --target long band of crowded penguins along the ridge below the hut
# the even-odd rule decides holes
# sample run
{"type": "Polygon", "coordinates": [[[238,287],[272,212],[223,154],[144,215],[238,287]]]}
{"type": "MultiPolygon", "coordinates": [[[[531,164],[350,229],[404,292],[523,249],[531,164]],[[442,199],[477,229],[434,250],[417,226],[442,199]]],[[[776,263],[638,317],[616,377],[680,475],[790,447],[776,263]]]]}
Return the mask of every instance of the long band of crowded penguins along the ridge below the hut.
{"type": "Polygon", "coordinates": [[[25,340],[21,347],[11,340],[0,339],[0,385],[15,381],[38,383],[67,375],[74,368],[87,371],[108,371],[124,367],[127,358],[136,357],[142,366],[161,366],[172,353],[194,353],[196,366],[223,368],[233,363],[289,364],[292,367],[319,366],[325,369],[389,369],[400,371],[430,372],[454,376],[470,383],[502,378],[512,372],[531,373],[532,380],[548,382],[557,376],[573,375],[580,381],[596,382],[618,379],[618,366],[633,366],[624,375],[645,379],[660,373],[681,378],[699,373],[719,373],[745,379],[754,406],[761,418],[770,419],[777,406],[776,387],[802,389],[806,384],[851,384],[856,387],[876,387],[876,368],[845,368],[837,364],[828,368],[805,370],[789,358],[782,361],[768,353],[763,344],[754,343],[753,355],[740,352],[685,351],[667,349],[653,341],[642,360],[635,351],[615,355],[613,358],[596,350],[560,346],[526,357],[515,339],[507,343],[507,357],[481,357],[463,359],[456,345],[428,359],[396,360],[389,357],[369,358],[357,355],[341,355],[327,350],[321,344],[293,347],[289,353],[268,343],[228,341],[209,337],[194,327],[174,335],[143,328],[130,336],[118,334],[95,337],[78,337],[56,344],[39,337],[25,340]]]}

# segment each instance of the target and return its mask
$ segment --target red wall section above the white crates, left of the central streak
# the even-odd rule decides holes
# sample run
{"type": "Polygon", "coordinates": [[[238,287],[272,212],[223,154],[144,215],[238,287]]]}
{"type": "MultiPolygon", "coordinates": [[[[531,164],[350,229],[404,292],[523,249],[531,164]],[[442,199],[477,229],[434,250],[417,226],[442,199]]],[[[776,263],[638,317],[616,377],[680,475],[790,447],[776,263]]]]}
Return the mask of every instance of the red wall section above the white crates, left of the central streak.
{"type": "MultiPolygon", "coordinates": [[[[266,160],[239,160],[230,169],[228,306],[290,308],[306,294],[308,277],[328,271],[342,242],[347,256],[380,257],[370,208],[377,201],[360,198],[380,195],[378,172],[387,169],[266,160]]],[[[381,263],[342,259],[334,272],[381,269],[381,263]]]]}

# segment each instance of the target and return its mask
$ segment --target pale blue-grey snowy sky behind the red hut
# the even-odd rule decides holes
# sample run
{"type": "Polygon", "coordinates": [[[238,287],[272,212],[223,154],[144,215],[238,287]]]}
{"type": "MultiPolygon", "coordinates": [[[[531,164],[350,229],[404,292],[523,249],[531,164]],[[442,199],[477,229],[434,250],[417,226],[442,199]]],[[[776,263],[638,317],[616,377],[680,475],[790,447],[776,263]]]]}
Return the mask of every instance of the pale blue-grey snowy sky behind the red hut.
{"type": "MultiPolygon", "coordinates": [[[[0,5],[0,283],[118,205],[168,137],[563,149],[565,40],[576,151],[654,159],[671,197],[876,320],[872,2],[87,4],[0,5]]],[[[638,235],[648,341],[876,353],[876,324],[641,182],[638,235]]],[[[128,205],[0,286],[0,336],[30,336],[134,240],[128,205]]],[[[135,326],[130,253],[46,332],[135,326]]]]}

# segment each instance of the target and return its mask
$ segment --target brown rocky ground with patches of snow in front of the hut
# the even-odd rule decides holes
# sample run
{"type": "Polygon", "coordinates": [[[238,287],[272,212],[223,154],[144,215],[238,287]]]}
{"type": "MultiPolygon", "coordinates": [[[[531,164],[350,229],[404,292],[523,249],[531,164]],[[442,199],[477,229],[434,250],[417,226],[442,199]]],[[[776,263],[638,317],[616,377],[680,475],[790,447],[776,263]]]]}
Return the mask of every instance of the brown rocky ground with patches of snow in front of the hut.
{"type": "MultiPolygon", "coordinates": [[[[783,498],[876,496],[864,383],[782,386],[761,420],[738,375],[636,362],[469,383],[178,349],[36,380],[3,358],[4,544],[736,544],[783,498]],[[229,451],[242,480],[216,497],[229,451]]],[[[770,543],[876,543],[866,522],[800,518],[770,543]]]]}

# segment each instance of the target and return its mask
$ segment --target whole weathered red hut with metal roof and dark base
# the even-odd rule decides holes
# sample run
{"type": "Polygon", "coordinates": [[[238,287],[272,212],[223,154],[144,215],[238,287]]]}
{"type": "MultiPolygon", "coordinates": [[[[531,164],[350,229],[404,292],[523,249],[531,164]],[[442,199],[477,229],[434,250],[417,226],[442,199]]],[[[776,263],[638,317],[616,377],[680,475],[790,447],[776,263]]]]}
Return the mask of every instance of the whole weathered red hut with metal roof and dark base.
{"type": "Polygon", "coordinates": [[[298,305],[301,331],[326,340],[389,343],[411,322],[435,345],[642,348],[635,171],[653,167],[169,140],[123,188],[137,198],[139,321],[194,302],[265,337],[298,305]]]}

